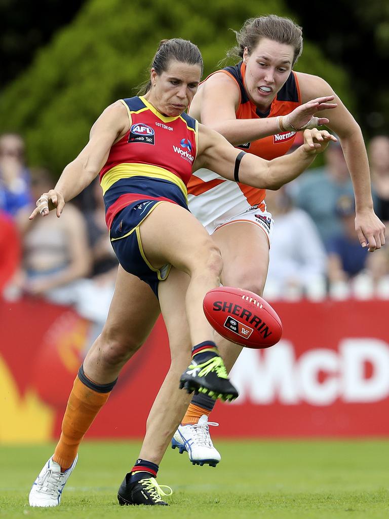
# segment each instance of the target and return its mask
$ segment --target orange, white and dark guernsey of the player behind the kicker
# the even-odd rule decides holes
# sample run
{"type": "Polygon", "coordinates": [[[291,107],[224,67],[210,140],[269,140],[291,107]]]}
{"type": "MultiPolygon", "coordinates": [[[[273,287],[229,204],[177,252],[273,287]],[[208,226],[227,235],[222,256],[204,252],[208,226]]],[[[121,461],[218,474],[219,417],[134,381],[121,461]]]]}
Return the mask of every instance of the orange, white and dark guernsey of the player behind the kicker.
{"type": "MultiPolygon", "coordinates": [[[[297,76],[291,72],[269,110],[266,113],[259,112],[258,107],[248,98],[244,81],[245,72],[246,66],[243,62],[214,72],[214,74],[227,74],[239,88],[240,103],[235,112],[237,119],[262,119],[287,115],[301,105],[297,76]]],[[[294,131],[280,132],[253,142],[242,143],[236,147],[247,153],[271,160],[285,155],[293,145],[295,136],[294,131]]],[[[226,180],[214,171],[204,168],[193,173],[188,183],[189,209],[210,234],[226,221],[251,209],[269,215],[266,212],[265,195],[265,189],[257,189],[226,180]]],[[[269,217],[271,219],[271,215],[269,217]]],[[[234,219],[236,220],[236,218],[234,219]]]]}

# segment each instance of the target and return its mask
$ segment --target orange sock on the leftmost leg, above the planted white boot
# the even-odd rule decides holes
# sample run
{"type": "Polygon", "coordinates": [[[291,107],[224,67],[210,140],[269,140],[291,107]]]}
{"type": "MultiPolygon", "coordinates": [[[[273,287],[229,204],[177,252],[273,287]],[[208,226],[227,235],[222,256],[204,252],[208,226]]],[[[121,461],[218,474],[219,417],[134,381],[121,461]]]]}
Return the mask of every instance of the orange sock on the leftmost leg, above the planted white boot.
{"type": "Polygon", "coordinates": [[[84,434],[109,395],[110,391],[99,393],[87,387],[77,375],[62,420],[60,441],[53,455],[53,461],[61,466],[62,472],[72,465],[84,434]]]}

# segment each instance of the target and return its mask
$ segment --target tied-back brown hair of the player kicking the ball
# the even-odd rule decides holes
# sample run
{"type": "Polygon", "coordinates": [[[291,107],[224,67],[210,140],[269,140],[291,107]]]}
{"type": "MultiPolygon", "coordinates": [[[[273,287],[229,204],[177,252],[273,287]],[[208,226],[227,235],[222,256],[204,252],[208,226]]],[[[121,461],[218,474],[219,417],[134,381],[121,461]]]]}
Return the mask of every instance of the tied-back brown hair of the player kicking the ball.
{"type": "MultiPolygon", "coordinates": [[[[203,73],[203,59],[197,45],[187,39],[172,38],[161,39],[157,52],[152,58],[150,69],[154,69],[158,75],[168,70],[172,60],[189,65],[200,65],[201,75],[203,73]]],[[[138,95],[145,94],[151,88],[151,81],[141,85],[138,95]]]]}

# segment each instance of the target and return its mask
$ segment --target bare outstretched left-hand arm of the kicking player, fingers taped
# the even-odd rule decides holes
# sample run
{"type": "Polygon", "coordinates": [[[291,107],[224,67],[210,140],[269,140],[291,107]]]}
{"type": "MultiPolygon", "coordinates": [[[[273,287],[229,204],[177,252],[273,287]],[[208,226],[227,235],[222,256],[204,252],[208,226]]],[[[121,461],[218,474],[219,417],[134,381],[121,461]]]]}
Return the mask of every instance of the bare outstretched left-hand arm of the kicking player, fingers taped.
{"type": "Polygon", "coordinates": [[[46,216],[54,208],[59,217],[65,202],[81,193],[101,171],[111,146],[127,132],[129,123],[127,108],[121,101],[109,105],[92,126],[85,148],[65,167],[54,189],[43,193],[36,202],[30,220],[39,213],[46,216]]]}

